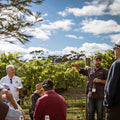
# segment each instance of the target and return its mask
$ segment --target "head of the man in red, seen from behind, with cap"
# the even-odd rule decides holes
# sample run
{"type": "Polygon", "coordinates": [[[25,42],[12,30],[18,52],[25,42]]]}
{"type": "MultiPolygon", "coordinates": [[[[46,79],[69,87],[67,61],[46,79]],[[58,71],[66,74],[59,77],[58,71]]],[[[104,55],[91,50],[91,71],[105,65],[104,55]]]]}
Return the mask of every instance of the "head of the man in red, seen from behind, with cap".
{"type": "Polygon", "coordinates": [[[54,83],[52,82],[51,79],[45,79],[42,83],[42,87],[45,91],[48,91],[48,90],[53,90],[54,88],[54,83]]]}

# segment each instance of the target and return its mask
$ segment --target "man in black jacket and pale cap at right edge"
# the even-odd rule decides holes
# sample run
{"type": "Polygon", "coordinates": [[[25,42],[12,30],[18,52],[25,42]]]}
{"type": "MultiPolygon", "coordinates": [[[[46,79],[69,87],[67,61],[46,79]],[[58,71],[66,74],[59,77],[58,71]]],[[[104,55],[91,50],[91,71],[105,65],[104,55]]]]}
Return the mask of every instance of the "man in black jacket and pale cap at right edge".
{"type": "Polygon", "coordinates": [[[120,120],[120,41],[113,49],[117,60],[110,67],[104,89],[106,120],[120,120]]]}

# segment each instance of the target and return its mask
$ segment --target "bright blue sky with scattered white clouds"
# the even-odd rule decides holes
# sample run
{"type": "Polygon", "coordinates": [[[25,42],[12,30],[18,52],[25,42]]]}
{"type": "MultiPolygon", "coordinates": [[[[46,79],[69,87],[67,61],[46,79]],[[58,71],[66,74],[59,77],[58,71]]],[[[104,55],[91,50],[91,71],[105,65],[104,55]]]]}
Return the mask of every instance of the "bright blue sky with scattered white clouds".
{"type": "Polygon", "coordinates": [[[34,36],[31,42],[25,46],[1,43],[0,51],[21,52],[24,58],[30,58],[33,50],[51,55],[71,50],[85,51],[87,56],[105,52],[120,40],[119,6],[119,0],[45,0],[31,8],[40,11],[44,21],[23,30],[34,36]]]}

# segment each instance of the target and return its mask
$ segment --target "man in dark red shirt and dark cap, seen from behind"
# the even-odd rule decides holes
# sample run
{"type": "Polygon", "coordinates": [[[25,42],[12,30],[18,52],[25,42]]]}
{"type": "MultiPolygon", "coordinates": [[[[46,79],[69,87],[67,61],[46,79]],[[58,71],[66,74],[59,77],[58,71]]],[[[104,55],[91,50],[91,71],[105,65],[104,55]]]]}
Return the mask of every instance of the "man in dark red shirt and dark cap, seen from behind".
{"type": "Polygon", "coordinates": [[[66,102],[65,99],[57,94],[54,89],[54,83],[46,79],[42,83],[45,95],[37,100],[34,120],[66,120],[66,102]]]}

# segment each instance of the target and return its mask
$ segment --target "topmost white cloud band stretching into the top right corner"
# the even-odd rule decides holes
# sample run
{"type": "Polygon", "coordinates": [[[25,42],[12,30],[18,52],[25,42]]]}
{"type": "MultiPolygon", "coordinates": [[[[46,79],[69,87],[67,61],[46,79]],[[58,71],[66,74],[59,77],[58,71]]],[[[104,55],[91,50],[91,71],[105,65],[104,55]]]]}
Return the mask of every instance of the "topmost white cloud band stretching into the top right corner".
{"type": "Polygon", "coordinates": [[[87,5],[80,8],[66,8],[58,12],[61,16],[73,14],[74,16],[100,16],[100,15],[120,15],[120,0],[93,0],[85,2],[87,5]]]}

